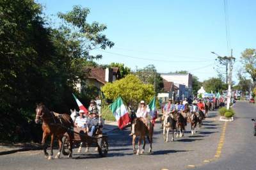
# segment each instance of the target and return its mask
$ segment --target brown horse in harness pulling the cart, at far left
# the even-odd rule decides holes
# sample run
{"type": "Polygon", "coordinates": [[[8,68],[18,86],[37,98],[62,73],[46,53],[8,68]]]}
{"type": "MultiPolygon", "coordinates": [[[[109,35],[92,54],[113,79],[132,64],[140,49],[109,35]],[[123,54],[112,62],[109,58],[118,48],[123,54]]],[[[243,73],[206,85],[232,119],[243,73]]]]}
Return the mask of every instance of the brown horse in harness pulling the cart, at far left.
{"type": "MultiPolygon", "coordinates": [[[[42,137],[42,145],[44,146],[44,154],[45,157],[48,156],[48,159],[50,160],[53,155],[53,141],[54,137],[58,138],[59,143],[59,151],[55,158],[60,158],[60,151],[62,146],[62,137],[67,132],[68,137],[70,139],[73,139],[73,121],[72,118],[68,114],[58,114],[55,112],[49,111],[47,107],[45,107],[44,104],[36,105],[36,119],[35,123],[38,123],[39,120],[42,120],[42,130],[43,130],[43,137],[42,137]],[[47,144],[45,143],[45,140],[47,137],[51,135],[51,155],[49,155],[46,151],[47,144]]],[[[70,140],[70,148],[68,153],[68,158],[72,157],[72,140],[70,140]]]]}

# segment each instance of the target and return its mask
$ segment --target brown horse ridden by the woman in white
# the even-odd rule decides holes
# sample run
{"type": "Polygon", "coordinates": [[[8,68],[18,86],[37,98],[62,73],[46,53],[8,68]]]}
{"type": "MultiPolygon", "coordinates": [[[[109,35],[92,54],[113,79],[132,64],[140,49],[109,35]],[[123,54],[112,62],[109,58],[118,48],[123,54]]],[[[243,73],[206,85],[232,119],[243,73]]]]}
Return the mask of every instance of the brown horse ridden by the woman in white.
{"type": "Polygon", "coordinates": [[[132,135],[132,146],[133,146],[133,153],[136,153],[136,155],[140,155],[140,144],[143,140],[143,148],[141,150],[141,154],[144,153],[146,140],[145,137],[148,139],[148,143],[150,143],[150,148],[148,152],[152,151],[152,141],[153,141],[153,132],[154,127],[152,126],[152,123],[150,122],[148,127],[145,125],[145,120],[143,118],[134,118],[133,124],[134,124],[134,135],[132,135]],[[140,139],[138,140],[138,150],[135,150],[135,141],[136,137],[139,136],[140,139]]]}

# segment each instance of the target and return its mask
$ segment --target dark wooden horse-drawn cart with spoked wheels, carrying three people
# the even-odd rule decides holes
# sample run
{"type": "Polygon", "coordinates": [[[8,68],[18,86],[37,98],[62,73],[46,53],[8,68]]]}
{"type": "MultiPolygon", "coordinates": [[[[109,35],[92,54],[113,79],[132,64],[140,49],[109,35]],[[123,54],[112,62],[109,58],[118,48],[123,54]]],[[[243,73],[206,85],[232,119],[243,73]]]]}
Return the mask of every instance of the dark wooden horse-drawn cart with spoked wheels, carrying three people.
{"type": "MultiPolygon", "coordinates": [[[[95,135],[89,136],[85,128],[74,128],[74,139],[73,145],[79,145],[83,143],[87,147],[97,147],[100,157],[106,157],[108,154],[108,135],[97,130],[95,135]]],[[[61,151],[63,155],[68,155],[66,151],[70,145],[68,135],[65,134],[62,138],[62,148],[61,151]]]]}

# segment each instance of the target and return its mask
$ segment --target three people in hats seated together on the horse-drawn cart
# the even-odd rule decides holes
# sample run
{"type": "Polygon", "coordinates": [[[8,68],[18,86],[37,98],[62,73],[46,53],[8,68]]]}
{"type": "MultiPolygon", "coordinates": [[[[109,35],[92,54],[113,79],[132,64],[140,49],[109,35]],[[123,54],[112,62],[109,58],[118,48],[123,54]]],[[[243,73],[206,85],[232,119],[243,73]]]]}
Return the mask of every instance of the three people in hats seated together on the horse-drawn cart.
{"type": "Polygon", "coordinates": [[[103,121],[100,120],[95,100],[91,100],[88,112],[81,109],[79,112],[72,112],[70,115],[75,128],[85,128],[89,136],[95,135],[97,130],[103,128],[103,121]]]}

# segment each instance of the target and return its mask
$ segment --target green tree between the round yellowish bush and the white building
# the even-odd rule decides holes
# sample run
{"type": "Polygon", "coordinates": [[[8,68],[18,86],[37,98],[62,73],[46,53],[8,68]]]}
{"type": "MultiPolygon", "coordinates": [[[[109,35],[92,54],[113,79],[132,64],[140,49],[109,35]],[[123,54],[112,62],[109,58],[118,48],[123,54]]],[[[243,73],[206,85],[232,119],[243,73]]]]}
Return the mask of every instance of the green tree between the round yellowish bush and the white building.
{"type": "Polygon", "coordinates": [[[163,78],[156,72],[156,67],[154,65],[148,65],[145,66],[145,68],[138,69],[134,74],[137,75],[143,83],[156,86],[156,94],[163,91],[163,78]]]}

